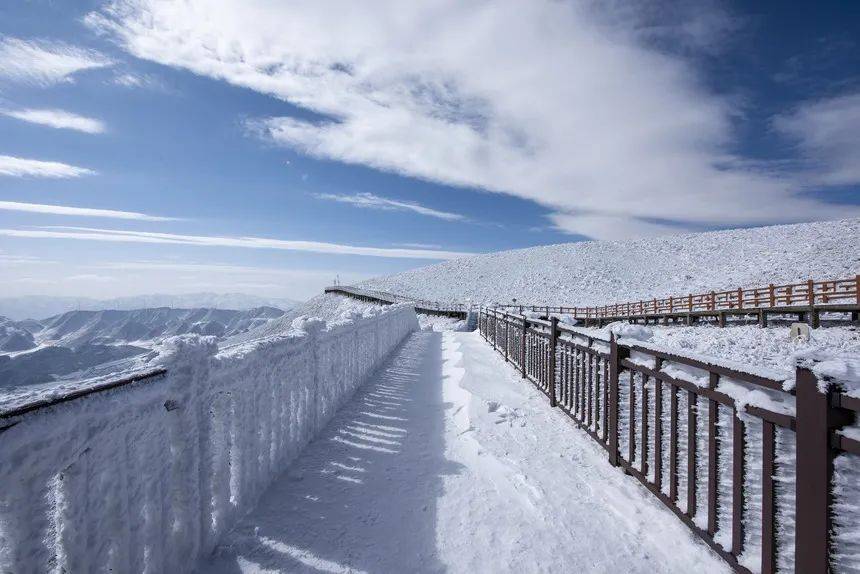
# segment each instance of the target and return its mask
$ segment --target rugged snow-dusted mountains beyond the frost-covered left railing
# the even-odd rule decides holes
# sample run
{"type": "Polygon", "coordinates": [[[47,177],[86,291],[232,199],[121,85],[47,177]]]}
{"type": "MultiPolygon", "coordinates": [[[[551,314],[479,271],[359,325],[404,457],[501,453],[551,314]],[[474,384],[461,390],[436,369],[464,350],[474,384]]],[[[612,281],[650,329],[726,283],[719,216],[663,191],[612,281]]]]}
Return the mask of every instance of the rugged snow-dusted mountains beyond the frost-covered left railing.
{"type": "Polygon", "coordinates": [[[142,355],[176,335],[232,337],[284,316],[275,307],[246,310],[171,309],[68,311],[41,321],[0,317],[0,388],[76,375],[142,355]]]}

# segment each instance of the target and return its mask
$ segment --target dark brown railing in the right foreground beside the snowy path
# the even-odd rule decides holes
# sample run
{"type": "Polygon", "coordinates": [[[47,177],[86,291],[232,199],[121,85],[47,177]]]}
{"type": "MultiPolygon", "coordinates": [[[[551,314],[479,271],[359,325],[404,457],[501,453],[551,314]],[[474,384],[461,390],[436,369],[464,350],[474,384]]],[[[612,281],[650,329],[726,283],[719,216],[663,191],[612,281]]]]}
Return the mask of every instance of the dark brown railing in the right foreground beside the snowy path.
{"type": "Polygon", "coordinates": [[[782,381],[725,365],[601,340],[555,317],[482,309],[478,326],[551,406],[607,450],[610,464],[638,479],[734,570],[831,571],[834,457],[860,455],[860,441],[835,430],[856,416],[860,399],[806,367],[786,390],[782,381]],[[738,389],[771,400],[746,404],[735,398],[738,389]],[[778,456],[777,445],[789,454],[778,456]],[[794,491],[785,487],[792,480],[794,491]]]}

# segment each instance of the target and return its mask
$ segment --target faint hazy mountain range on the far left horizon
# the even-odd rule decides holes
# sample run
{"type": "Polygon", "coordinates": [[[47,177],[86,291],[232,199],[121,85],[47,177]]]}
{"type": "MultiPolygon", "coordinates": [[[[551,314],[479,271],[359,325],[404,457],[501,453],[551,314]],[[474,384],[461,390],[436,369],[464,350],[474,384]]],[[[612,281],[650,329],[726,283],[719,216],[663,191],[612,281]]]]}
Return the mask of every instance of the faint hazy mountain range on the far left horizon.
{"type": "Polygon", "coordinates": [[[285,298],[258,297],[244,293],[187,293],[182,295],[136,295],[115,299],[88,297],[50,297],[31,295],[0,298],[0,316],[13,320],[44,319],[67,311],[100,311],[103,309],[131,310],[170,307],[173,309],[234,309],[276,307],[288,310],[298,301],[285,298]]]}

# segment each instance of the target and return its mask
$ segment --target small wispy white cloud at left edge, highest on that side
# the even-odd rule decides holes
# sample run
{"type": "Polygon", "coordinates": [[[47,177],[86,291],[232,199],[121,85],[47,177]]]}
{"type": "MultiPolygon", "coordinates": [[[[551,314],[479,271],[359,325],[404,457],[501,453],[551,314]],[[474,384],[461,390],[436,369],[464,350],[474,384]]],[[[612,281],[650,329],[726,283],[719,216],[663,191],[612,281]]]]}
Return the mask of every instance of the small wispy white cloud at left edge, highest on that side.
{"type": "Polygon", "coordinates": [[[77,72],[112,63],[95,50],[63,42],[0,37],[0,77],[9,80],[49,86],[71,81],[77,72]]]}

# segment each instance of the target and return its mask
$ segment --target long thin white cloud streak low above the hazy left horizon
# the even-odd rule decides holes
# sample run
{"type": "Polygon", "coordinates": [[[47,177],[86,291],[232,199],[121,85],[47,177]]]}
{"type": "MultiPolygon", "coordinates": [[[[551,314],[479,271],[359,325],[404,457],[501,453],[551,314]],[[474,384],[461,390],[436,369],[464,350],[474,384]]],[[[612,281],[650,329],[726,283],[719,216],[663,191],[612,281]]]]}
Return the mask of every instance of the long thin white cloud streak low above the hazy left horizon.
{"type": "Polygon", "coordinates": [[[290,241],[264,237],[221,237],[210,235],[180,235],[150,231],[126,231],[90,227],[39,227],[37,229],[0,229],[0,236],[36,239],[74,239],[118,243],[155,243],[195,245],[202,247],[241,247],[247,249],[278,249],[335,255],[364,255],[399,259],[455,259],[472,255],[457,251],[430,249],[399,249],[341,245],[320,241],[290,241]]]}

